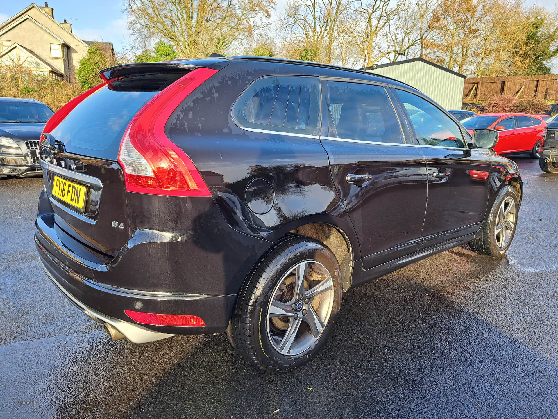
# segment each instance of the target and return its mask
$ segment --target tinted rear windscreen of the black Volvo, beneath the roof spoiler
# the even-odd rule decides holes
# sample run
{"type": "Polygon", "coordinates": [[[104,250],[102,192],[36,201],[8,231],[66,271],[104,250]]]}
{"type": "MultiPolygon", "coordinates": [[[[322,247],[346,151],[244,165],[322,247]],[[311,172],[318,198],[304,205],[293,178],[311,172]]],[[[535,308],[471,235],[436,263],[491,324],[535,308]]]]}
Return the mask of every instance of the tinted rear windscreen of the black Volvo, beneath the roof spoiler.
{"type": "Polygon", "coordinates": [[[117,160],[124,131],[153,96],[182,74],[118,79],[78,104],[50,133],[68,153],[117,160]]]}

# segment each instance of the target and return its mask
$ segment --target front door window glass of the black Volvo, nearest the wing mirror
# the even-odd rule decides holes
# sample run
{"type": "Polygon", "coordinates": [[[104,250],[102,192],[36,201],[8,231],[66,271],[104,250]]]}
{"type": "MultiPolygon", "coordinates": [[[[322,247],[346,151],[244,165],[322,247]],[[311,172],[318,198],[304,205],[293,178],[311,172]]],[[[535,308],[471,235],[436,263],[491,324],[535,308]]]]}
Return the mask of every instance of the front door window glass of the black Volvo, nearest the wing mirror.
{"type": "Polygon", "coordinates": [[[401,90],[397,94],[411,118],[419,144],[466,148],[459,126],[441,109],[416,94],[401,90]]]}

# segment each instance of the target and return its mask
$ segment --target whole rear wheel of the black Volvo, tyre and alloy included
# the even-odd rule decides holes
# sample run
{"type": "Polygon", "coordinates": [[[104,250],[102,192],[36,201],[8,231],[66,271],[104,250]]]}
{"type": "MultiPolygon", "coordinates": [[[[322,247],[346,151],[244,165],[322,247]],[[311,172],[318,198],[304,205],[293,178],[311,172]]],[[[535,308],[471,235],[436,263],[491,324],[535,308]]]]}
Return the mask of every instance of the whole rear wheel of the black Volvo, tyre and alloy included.
{"type": "Polygon", "coordinates": [[[258,265],[240,293],[227,334],[259,369],[287,372],[323,346],[341,306],[339,263],[321,242],[291,236],[258,265]]]}

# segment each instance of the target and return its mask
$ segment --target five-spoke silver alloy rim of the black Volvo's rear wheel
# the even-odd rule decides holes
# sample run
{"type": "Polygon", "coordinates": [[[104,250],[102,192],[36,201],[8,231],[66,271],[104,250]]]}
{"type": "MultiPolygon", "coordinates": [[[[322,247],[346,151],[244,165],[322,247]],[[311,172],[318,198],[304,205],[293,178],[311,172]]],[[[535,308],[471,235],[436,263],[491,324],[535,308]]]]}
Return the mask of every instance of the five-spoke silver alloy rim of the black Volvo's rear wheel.
{"type": "Polygon", "coordinates": [[[275,287],[267,309],[267,334],[283,355],[308,350],[323,334],[333,309],[333,278],[324,265],[306,260],[275,287]]]}

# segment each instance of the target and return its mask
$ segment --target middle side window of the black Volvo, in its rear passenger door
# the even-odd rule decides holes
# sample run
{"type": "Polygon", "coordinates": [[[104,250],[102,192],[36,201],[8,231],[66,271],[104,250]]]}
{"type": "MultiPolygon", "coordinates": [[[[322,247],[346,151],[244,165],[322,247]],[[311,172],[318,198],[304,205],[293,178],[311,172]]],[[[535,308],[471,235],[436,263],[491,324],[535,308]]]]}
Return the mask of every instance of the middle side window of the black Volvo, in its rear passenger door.
{"type": "Polygon", "coordinates": [[[329,111],[339,138],[404,142],[396,113],[383,87],[328,82],[328,91],[329,111]]]}

